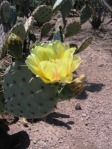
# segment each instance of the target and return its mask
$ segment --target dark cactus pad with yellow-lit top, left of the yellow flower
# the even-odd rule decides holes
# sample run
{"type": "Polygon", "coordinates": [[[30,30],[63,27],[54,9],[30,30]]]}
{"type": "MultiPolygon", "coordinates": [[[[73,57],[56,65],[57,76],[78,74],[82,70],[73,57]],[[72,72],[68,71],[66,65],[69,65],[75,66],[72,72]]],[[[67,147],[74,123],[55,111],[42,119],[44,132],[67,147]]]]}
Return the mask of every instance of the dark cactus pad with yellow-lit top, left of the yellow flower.
{"type": "Polygon", "coordinates": [[[19,36],[15,34],[9,35],[8,38],[8,52],[16,60],[21,59],[23,56],[22,40],[19,36]]]}

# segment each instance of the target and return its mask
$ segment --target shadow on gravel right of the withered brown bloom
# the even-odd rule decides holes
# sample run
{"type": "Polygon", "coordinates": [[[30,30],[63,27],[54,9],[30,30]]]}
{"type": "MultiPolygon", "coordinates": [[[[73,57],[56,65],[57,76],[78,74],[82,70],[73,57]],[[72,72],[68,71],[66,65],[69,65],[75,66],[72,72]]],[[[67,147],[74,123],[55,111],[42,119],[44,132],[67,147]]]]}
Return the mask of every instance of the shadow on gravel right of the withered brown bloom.
{"type": "Polygon", "coordinates": [[[100,92],[102,90],[102,88],[104,87],[105,85],[100,83],[100,84],[97,84],[97,83],[87,83],[85,88],[84,88],[84,91],[78,95],[76,97],[76,99],[79,99],[79,100],[85,100],[87,97],[88,97],[88,94],[87,94],[87,91],[88,92],[100,92]]]}

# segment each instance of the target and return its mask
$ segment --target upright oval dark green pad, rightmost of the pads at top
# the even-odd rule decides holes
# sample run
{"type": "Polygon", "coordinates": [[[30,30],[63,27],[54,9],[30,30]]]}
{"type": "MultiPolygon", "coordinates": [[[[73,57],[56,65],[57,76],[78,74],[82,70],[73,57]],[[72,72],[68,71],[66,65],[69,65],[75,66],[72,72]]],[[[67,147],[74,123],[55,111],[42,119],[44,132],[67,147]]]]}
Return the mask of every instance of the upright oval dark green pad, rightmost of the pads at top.
{"type": "Polygon", "coordinates": [[[81,24],[83,24],[86,21],[88,21],[90,19],[91,15],[92,15],[92,9],[87,4],[81,10],[81,14],[80,14],[81,24]]]}

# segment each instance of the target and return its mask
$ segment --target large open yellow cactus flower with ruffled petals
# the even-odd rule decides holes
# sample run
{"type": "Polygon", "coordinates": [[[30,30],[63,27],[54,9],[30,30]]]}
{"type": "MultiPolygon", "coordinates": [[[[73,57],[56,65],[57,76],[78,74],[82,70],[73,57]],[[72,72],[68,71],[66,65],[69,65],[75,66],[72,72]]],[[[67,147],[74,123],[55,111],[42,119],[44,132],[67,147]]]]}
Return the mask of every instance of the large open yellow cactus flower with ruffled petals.
{"type": "Polygon", "coordinates": [[[60,41],[45,43],[31,50],[26,64],[44,83],[71,83],[73,72],[81,63],[81,59],[74,56],[75,50],[60,41]]]}

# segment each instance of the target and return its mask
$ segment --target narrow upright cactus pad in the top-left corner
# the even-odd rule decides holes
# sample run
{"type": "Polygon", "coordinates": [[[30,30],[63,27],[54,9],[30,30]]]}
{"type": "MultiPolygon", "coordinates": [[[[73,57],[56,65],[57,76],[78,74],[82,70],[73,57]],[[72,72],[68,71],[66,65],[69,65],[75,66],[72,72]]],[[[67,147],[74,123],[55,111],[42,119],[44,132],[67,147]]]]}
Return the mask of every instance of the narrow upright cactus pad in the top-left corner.
{"type": "Polygon", "coordinates": [[[1,20],[3,24],[7,24],[10,18],[10,4],[7,0],[4,0],[0,5],[1,20]]]}

